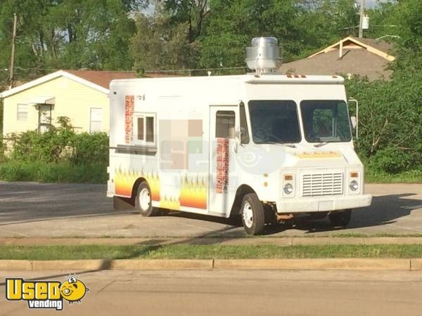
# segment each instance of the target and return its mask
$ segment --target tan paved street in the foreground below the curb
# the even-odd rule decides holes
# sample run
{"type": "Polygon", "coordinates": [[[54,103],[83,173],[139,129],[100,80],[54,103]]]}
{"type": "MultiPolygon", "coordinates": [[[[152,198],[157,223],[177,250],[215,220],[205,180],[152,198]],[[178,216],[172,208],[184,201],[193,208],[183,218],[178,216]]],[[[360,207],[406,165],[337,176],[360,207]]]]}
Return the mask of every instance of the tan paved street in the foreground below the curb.
{"type": "MultiPolygon", "coordinates": [[[[77,273],[91,290],[60,315],[421,315],[422,272],[99,271],[77,273]]],[[[68,271],[0,272],[63,282],[68,271]]],[[[58,315],[5,299],[0,315],[58,315]]]]}

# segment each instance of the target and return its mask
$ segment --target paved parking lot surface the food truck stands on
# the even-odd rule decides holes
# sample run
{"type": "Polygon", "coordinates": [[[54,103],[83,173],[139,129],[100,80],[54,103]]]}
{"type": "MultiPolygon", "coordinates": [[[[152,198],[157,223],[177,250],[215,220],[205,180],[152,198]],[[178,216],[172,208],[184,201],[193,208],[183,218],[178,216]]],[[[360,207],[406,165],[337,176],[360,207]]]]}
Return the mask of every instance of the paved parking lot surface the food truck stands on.
{"type": "MultiPolygon", "coordinates": [[[[366,185],[373,204],[358,209],[347,229],[328,220],[295,220],[269,226],[283,235],[422,234],[422,185],[366,185]]],[[[113,211],[105,185],[0,182],[0,237],[243,237],[243,228],[224,218],[189,213],[143,218],[113,211]]]]}

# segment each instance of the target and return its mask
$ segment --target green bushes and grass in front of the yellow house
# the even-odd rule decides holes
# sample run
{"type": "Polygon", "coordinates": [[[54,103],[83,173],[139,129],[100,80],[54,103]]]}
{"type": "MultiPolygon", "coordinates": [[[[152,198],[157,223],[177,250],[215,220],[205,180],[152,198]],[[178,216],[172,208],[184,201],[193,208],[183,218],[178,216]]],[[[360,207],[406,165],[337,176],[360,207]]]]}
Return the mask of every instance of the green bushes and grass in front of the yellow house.
{"type": "Polygon", "coordinates": [[[67,117],[57,122],[46,133],[8,136],[13,149],[8,157],[0,155],[0,180],[106,183],[107,134],[75,133],[67,117]]]}

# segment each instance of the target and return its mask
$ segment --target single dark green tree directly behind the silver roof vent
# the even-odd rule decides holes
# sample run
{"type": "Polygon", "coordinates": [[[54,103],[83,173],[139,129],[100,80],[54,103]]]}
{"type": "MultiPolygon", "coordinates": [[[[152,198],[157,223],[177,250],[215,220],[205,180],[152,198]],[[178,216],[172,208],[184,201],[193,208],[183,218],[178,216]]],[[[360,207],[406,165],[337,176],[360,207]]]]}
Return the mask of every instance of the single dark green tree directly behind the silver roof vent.
{"type": "Polygon", "coordinates": [[[244,65],[245,46],[252,37],[277,37],[286,58],[302,46],[294,22],[302,8],[293,0],[212,0],[210,6],[209,24],[201,39],[203,67],[244,65]]]}

